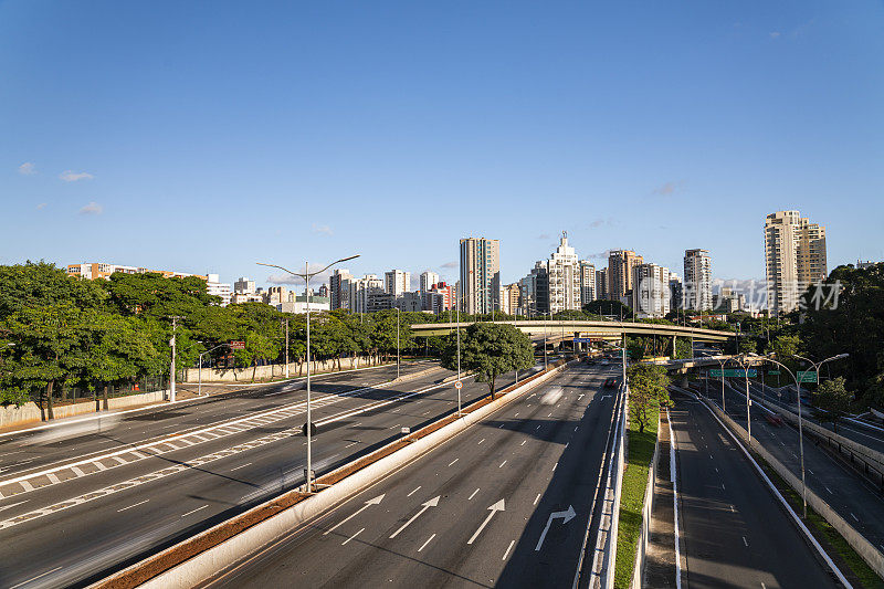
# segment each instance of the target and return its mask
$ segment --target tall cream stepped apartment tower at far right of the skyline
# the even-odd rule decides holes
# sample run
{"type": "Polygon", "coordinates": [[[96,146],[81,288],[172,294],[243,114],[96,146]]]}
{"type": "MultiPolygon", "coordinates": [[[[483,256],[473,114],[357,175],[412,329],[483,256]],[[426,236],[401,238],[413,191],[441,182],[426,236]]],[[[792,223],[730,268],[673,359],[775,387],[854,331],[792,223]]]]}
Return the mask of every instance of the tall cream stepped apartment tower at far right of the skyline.
{"type": "Polygon", "coordinates": [[[798,306],[811,284],[828,274],[825,228],[798,211],[777,211],[765,220],[767,305],[776,315],[798,306]]]}

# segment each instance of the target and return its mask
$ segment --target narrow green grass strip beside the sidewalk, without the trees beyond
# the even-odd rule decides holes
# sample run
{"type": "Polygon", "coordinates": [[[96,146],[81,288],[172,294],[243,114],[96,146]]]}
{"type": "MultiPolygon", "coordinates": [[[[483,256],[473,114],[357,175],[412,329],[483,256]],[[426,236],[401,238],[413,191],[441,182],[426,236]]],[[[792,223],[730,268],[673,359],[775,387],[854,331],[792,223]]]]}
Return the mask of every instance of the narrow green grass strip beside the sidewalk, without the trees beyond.
{"type": "Polygon", "coordinates": [[[639,432],[639,424],[629,420],[629,444],[627,469],[620,492],[620,524],[617,533],[617,561],[614,587],[628,589],[635,569],[635,550],[642,527],[642,505],[648,487],[648,471],[654,457],[660,409],[649,411],[650,424],[639,432]]]}

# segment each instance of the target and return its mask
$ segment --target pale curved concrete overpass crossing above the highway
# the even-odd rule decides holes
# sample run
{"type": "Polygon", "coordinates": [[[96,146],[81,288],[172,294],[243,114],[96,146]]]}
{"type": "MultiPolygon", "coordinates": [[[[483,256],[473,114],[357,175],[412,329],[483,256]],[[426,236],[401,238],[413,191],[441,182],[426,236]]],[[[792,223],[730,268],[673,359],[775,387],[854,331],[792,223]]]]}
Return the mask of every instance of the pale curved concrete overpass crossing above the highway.
{"type": "MultiPolygon", "coordinates": [[[[588,322],[588,320],[508,320],[496,322],[513,325],[532,338],[548,337],[557,339],[572,339],[576,337],[590,337],[593,339],[617,340],[623,334],[643,337],[685,337],[694,341],[727,341],[737,337],[733,332],[718,332],[716,329],[704,329],[699,327],[682,327],[680,325],[662,325],[656,323],[635,323],[635,322],[588,322]]],[[[411,330],[417,336],[441,336],[448,335],[460,325],[461,329],[470,327],[472,323],[424,323],[411,326],[411,330]]]]}

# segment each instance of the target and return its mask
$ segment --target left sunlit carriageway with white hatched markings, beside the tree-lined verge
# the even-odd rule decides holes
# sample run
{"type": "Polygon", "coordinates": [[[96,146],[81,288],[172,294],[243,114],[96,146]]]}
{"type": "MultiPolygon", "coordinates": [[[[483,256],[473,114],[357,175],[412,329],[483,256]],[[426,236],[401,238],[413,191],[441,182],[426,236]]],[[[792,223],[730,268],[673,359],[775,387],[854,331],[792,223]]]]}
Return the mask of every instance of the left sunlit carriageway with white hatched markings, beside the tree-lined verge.
{"type": "MultiPolygon", "coordinates": [[[[451,372],[428,367],[398,383],[394,368],[318,380],[317,474],[453,411],[453,383],[439,383],[451,372]]],[[[485,395],[486,385],[465,381],[464,402],[485,395]]],[[[304,399],[299,382],[280,383],[126,413],[73,438],[3,438],[0,586],[86,582],[303,483],[304,399]]]]}

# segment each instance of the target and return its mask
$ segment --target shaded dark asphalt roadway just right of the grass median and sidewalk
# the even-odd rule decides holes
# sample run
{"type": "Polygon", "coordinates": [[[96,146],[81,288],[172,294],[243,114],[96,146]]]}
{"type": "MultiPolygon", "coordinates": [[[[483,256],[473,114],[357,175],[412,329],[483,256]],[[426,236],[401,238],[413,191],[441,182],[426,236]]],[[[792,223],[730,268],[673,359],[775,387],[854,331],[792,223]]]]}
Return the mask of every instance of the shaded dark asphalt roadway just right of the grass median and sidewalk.
{"type": "Polygon", "coordinates": [[[831,570],[713,414],[693,397],[675,392],[672,399],[683,582],[836,587],[831,570]]]}

